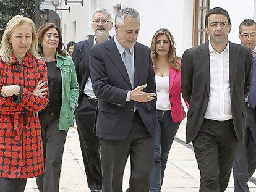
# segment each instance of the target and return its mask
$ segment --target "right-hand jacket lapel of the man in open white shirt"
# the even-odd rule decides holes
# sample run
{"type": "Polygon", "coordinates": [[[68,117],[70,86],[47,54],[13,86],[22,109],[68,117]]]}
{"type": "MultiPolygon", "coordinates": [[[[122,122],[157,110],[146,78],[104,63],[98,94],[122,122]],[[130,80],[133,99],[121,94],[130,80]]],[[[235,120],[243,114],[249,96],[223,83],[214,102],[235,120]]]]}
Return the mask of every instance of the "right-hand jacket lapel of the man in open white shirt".
{"type": "Polygon", "coordinates": [[[238,48],[233,43],[229,42],[229,85],[230,94],[232,96],[234,81],[236,79],[236,71],[239,62],[238,48]]]}

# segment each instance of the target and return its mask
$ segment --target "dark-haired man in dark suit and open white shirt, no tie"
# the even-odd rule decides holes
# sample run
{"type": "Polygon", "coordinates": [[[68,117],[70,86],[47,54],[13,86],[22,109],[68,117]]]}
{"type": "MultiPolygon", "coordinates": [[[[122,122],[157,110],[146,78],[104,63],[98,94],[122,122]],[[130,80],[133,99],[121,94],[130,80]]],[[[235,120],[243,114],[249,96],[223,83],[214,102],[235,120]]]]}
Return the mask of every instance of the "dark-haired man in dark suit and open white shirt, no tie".
{"type": "Polygon", "coordinates": [[[187,49],[181,61],[182,94],[190,104],[186,143],[193,142],[200,191],[223,192],[244,141],[252,53],[228,41],[231,22],[226,10],[209,10],[205,27],[210,41],[187,49]]]}

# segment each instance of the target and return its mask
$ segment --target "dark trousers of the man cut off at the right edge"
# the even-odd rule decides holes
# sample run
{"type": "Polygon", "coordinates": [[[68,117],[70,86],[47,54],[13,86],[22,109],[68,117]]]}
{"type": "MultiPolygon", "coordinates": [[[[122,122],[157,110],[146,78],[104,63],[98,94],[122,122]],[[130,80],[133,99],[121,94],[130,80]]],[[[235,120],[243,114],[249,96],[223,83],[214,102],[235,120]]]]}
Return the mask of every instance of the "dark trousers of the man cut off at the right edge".
{"type": "Polygon", "coordinates": [[[239,146],[233,164],[234,191],[249,192],[247,182],[256,169],[256,109],[246,107],[244,144],[239,146]]]}

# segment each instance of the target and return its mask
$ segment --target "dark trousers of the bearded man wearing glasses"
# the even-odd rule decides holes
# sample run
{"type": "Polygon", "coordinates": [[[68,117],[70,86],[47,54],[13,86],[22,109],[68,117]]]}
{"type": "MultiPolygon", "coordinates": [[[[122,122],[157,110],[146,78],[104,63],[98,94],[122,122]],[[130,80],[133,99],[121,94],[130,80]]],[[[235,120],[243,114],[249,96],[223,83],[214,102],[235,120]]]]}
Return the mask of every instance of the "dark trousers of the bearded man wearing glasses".
{"type": "Polygon", "coordinates": [[[85,165],[88,187],[91,191],[102,188],[100,140],[93,130],[98,103],[82,96],[75,111],[79,141],[85,165]]]}

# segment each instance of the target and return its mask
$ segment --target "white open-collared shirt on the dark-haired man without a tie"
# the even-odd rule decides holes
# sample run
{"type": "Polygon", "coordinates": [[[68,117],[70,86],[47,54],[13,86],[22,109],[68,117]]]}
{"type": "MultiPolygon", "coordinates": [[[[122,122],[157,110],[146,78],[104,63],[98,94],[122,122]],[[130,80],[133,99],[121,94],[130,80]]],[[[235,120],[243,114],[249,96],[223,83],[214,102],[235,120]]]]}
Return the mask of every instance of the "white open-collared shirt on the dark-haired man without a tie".
{"type": "Polygon", "coordinates": [[[210,97],[205,118],[224,121],[232,118],[229,85],[229,43],[223,52],[216,52],[209,42],[210,97]]]}

